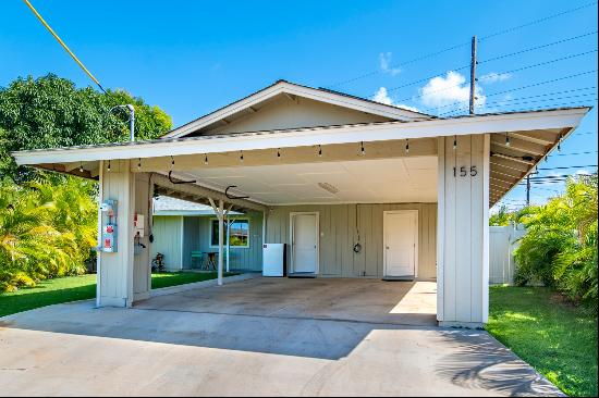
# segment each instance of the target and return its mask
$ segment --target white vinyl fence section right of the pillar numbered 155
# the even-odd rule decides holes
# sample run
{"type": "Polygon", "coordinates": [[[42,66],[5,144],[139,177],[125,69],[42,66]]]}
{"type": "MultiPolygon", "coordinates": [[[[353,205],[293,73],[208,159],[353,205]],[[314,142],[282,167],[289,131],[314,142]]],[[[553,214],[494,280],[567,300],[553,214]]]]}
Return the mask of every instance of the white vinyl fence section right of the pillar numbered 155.
{"type": "Polygon", "coordinates": [[[514,250],[526,234],[522,225],[489,227],[489,283],[514,283],[514,250]]]}

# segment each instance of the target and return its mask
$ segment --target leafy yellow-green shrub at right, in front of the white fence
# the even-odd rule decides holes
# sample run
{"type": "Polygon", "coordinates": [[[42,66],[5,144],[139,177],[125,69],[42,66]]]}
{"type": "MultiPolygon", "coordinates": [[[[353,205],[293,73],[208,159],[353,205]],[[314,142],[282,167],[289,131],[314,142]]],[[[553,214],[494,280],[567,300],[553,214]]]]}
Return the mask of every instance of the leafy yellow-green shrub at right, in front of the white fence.
{"type": "Polygon", "coordinates": [[[597,175],[571,178],[565,194],[527,208],[527,228],[514,256],[514,282],[542,282],[597,309],[597,175]]]}

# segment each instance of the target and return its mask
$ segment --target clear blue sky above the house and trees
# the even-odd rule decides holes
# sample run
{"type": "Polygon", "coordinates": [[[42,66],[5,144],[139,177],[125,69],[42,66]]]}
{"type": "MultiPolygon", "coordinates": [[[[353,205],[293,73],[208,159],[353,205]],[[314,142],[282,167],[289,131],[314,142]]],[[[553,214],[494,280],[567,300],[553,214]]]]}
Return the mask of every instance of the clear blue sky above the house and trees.
{"type": "MultiPolygon", "coordinates": [[[[589,4],[578,0],[32,2],[105,87],[125,88],[159,105],[175,126],[279,78],[432,113],[452,111],[454,107],[447,104],[460,103],[467,91],[468,71],[460,67],[469,62],[473,35],[489,36],[589,4]],[[406,63],[456,45],[463,46],[406,63]],[[460,85],[462,75],[465,80],[460,85]],[[418,80],[423,82],[406,86],[418,80]]],[[[518,89],[596,71],[596,32],[594,3],[481,40],[478,76],[485,103],[479,111],[596,105],[597,72],[518,89]],[[484,62],[580,35],[586,36],[484,62]],[[572,58],[551,62],[565,57],[572,58]],[[517,71],[545,62],[550,63],[517,71]],[[511,91],[501,94],[506,90],[511,91]]],[[[17,76],[49,72],[80,86],[90,84],[22,1],[2,4],[0,54],[0,86],[17,76]]],[[[597,164],[596,151],[597,109],[564,142],[564,156],[550,157],[542,167],[597,164]],[[586,151],[594,153],[567,156],[586,151]]],[[[543,201],[561,188],[536,186],[533,199],[543,201]]],[[[523,199],[524,189],[516,188],[504,202],[516,207],[523,199]]]]}

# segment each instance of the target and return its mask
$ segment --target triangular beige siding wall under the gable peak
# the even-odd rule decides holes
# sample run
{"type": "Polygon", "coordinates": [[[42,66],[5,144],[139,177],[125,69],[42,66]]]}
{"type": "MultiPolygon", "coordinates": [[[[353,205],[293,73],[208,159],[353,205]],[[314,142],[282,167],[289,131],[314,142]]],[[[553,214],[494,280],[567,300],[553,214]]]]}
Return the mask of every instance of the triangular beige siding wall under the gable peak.
{"type": "Polygon", "coordinates": [[[207,128],[209,134],[260,132],[279,128],[330,126],[351,123],[384,122],[388,117],[377,116],[328,103],[297,97],[292,101],[281,96],[256,113],[247,113],[225,126],[207,128]]]}

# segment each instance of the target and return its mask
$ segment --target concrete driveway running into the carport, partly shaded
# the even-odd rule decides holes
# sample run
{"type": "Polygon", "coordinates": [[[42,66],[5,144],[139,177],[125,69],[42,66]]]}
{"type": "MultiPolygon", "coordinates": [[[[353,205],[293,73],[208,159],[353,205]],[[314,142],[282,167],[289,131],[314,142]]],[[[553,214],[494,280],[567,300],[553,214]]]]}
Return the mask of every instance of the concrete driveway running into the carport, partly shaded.
{"type": "Polygon", "coordinates": [[[0,395],[561,395],[433,283],[254,278],[0,319],[0,395]]]}

